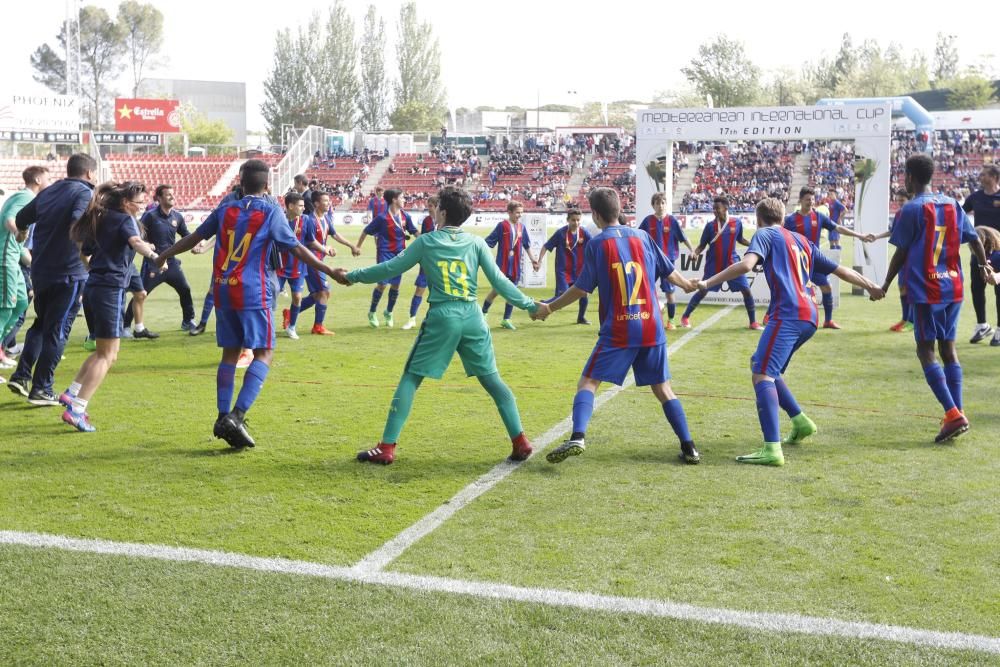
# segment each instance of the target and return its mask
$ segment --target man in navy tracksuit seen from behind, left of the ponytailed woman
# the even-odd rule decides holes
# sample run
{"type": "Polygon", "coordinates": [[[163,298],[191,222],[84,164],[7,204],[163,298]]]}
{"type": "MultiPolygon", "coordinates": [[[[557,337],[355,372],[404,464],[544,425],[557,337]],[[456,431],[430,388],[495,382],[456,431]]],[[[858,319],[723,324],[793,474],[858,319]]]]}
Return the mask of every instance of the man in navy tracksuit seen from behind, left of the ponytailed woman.
{"type": "Polygon", "coordinates": [[[66,178],[39,192],[15,218],[18,229],[35,226],[31,262],[35,322],[25,335],[17,370],[7,386],[33,405],[59,405],[52,382],[87,280],[69,230],[90,206],[96,171],[97,162],[89,155],[70,156],[66,178]]]}

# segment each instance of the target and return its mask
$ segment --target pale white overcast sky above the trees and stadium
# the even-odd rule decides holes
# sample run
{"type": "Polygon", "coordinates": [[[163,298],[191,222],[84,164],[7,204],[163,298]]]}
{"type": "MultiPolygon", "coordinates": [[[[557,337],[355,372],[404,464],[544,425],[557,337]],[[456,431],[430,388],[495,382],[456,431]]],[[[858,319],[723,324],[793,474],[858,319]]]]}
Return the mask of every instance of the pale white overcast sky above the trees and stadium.
{"type": "MultiPolygon", "coordinates": [[[[264,130],[260,105],[263,81],[271,67],[274,34],[302,25],[329,2],[299,0],[285,5],[245,0],[151,0],[164,14],[164,66],[148,72],[158,78],[245,81],[247,127],[264,130]],[[245,46],[244,46],[245,45],[245,46]]],[[[40,92],[32,80],[31,52],[49,41],[66,15],[67,2],[36,0],[7,3],[8,26],[0,40],[4,93],[40,92]]],[[[117,0],[90,0],[113,15],[117,0]]],[[[369,0],[346,0],[357,32],[369,0]]],[[[400,0],[379,0],[387,24],[387,64],[395,59],[396,17],[400,0]]],[[[714,2],[539,2],[503,0],[459,4],[454,0],[417,0],[422,20],[434,26],[442,55],[448,104],[457,107],[571,104],[619,99],[650,100],[660,90],[684,88],[681,73],[698,45],[724,32],[744,42],[765,72],[797,70],[803,62],[833,55],[849,32],[855,44],[877,39],[898,42],[906,53],[933,54],[939,30],[961,31],[961,65],[995,64],[989,20],[942,24],[923,12],[906,12],[902,3],[841,0],[832,11],[801,2],[775,0],[714,2]],[[803,17],[802,15],[805,15],[803,17]]],[[[985,16],[983,17],[986,18],[985,16]]],[[[995,73],[995,72],[994,72],[995,73]]],[[[127,75],[130,76],[130,75],[127,75]]],[[[120,92],[131,90],[125,77],[120,92]]]]}

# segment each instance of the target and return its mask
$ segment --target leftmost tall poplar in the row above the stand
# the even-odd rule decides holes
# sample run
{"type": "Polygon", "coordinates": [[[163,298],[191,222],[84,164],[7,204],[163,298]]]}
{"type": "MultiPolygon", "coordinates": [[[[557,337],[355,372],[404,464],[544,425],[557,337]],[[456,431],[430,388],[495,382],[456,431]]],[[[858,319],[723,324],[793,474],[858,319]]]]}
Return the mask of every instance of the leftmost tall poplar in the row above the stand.
{"type": "MultiPolygon", "coordinates": [[[[318,42],[319,34],[315,31],[318,42]]],[[[289,29],[279,30],[274,40],[274,64],[264,80],[264,103],[261,114],[267,122],[267,133],[275,144],[282,143],[281,126],[291,124],[305,127],[311,113],[306,106],[309,102],[310,63],[302,57],[303,45],[308,45],[309,37],[299,30],[293,37],[289,29]]]]}

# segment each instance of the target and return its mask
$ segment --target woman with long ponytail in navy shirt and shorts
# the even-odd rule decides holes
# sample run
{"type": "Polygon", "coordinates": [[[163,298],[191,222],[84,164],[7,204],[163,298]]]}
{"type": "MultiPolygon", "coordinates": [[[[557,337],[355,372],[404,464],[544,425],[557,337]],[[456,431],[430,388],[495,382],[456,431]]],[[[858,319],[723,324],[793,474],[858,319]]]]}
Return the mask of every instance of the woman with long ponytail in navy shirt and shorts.
{"type": "Polygon", "coordinates": [[[142,240],[136,216],[146,207],[146,186],[137,181],[105,183],[72,235],[90,265],[83,289],[83,313],[97,339],[93,352],[59,402],[66,407],[62,420],[80,431],[95,430],[87,414],[90,398],[118,358],[122,335],[122,306],[135,253],[156,260],[153,246],[142,240]]]}

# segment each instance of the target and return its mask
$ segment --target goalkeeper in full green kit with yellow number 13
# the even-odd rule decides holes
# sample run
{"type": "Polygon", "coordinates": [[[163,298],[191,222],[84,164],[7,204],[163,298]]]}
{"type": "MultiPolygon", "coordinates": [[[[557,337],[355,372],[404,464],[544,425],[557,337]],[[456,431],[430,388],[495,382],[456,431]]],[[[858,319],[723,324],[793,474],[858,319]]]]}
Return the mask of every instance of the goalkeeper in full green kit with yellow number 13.
{"type": "Polygon", "coordinates": [[[475,375],[497,404],[513,443],[511,460],[523,461],[531,455],[531,443],[521,428],[521,415],[517,411],[514,394],[497,371],[493,338],[477,299],[479,270],[483,270],[487,280],[507,303],[529,313],[534,313],[538,306],[500,273],[483,239],[462,231],[462,223],[472,214],[469,195],[464,190],[449,186],[443,188],[438,197],[437,228],[433,232],[421,234],[388,262],[351,272],[334,270],[334,280],[342,285],[351,285],[387,280],[420,264],[430,289],[427,299],[430,309],[392,397],[382,441],[374,449],[359,452],[358,460],[382,464],[393,462],[399,433],[413,407],[417,388],[425,377],[440,379],[455,352],[458,352],[466,374],[475,375]]]}

